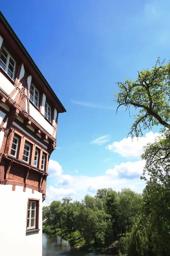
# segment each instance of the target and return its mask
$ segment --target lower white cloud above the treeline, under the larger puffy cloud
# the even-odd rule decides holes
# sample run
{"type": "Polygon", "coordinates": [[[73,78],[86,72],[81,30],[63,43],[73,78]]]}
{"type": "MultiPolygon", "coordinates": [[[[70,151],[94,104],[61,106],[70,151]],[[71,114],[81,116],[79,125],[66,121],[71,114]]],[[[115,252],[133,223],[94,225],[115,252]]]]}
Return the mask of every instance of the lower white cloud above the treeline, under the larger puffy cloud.
{"type": "Polygon", "coordinates": [[[137,162],[126,162],[120,165],[114,166],[113,169],[108,169],[106,171],[107,175],[112,175],[114,177],[130,177],[130,176],[140,176],[143,173],[145,161],[140,160],[137,162]]]}

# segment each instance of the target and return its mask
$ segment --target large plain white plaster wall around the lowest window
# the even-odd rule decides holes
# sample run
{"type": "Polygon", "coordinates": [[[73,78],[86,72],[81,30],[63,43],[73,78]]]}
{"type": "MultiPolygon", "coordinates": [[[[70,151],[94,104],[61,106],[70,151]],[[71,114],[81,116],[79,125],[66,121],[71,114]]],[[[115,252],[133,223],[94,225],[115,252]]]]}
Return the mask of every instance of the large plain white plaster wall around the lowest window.
{"type": "Polygon", "coordinates": [[[0,256],[42,256],[42,193],[0,185],[0,256]],[[37,233],[26,234],[28,198],[40,199],[37,233]]]}

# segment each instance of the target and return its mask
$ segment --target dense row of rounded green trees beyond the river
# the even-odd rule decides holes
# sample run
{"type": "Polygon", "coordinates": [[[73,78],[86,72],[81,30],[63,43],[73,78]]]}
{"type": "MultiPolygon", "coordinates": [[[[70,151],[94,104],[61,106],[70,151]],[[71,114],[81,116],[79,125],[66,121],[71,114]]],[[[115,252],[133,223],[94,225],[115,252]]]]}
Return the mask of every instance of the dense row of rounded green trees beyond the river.
{"type": "Polygon", "coordinates": [[[64,230],[70,237],[77,232],[85,244],[108,247],[132,229],[141,202],[142,196],[130,189],[98,189],[81,202],[69,197],[53,201],[43,207],[43,219],[55,232],[64,230]]]}

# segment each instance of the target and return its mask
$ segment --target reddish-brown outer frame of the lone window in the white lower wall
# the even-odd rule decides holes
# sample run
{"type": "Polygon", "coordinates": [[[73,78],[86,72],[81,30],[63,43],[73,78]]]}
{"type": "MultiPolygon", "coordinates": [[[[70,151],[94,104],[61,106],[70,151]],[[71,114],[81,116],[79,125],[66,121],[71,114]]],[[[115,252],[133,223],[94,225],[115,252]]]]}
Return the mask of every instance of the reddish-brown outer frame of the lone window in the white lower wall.
{"type": "Polygon", "coordinates": [[[40,208],[40,199],[28,198],[27,215],[26,215],[26,233],[36,232],[40,230],[39,229],[39,208],[40,208]],[[28,218],[28,212],[30,211],[29,202],[35,202],[34,226],[31,226],[31,212],[29,213],[29,218],[28,218]],[[29,227],[27,227],[28,219],[30,220],[29,227]]]}

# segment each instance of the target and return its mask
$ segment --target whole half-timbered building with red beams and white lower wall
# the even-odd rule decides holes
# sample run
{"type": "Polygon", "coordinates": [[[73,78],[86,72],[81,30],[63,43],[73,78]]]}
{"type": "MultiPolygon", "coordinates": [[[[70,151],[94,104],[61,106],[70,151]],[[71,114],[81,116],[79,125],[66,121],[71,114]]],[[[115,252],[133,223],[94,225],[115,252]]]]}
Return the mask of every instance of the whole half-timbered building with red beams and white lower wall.
{"type": "Polygon", "coordinates": [[[0,13],[0,255],[42,256],[42,201],[65,108],[0,13]]]}

